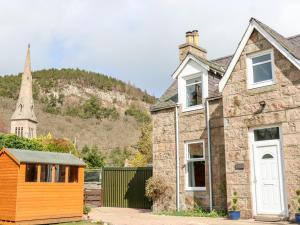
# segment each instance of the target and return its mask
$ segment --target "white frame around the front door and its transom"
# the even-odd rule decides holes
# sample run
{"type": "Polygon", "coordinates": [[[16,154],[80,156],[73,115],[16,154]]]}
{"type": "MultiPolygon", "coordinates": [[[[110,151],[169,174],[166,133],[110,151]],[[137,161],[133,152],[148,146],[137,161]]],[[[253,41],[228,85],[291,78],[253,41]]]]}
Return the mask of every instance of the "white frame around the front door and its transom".
{"type": "Polygon", "coordinates": [[[280,192],[280,198],[282,200],[283,204],[283,212],[282,214],[278,214],[280,216],[288,216],[288,204],[287,204],[287,193],[286,193],[286,188],[285,188],[285,166],[284,166],[284,155],[283,155],[283,138],[282,138],[282,129],[281,125],[269,125],[269,126],[258,126],[258,127],[251,127],[248,130],[248,144],[249,144],[249,158],[250,158],[250,179],[251,179],[251,197],[252,197],[252,214],[253,216],[259,215],[257,213],[257,205],[256,205],[256,186],[255,186],[255,162],[254,162],[254,130],[257,129],[264,129],[264,128],[273,128],[273,127],[278,127],[279,128],[279,153],[278,157],[280,157],[280,162],[281,162],[281,180],[280,182],[280,189],[282,190],[280,192]]]}

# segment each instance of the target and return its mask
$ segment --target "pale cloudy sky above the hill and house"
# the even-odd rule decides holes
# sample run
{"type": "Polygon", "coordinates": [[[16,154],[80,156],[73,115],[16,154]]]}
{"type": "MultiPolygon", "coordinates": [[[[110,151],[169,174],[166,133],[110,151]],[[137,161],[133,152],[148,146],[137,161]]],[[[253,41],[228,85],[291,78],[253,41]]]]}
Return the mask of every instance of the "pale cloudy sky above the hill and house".
{"type": "Polygon", "coordinates": [[[179,64],[185,32],[198,30],[208,58],[231,55],[251,17],[300,34],[299,0],[0,0],[0,74],[80,68],[159,97],[179,64]]]}

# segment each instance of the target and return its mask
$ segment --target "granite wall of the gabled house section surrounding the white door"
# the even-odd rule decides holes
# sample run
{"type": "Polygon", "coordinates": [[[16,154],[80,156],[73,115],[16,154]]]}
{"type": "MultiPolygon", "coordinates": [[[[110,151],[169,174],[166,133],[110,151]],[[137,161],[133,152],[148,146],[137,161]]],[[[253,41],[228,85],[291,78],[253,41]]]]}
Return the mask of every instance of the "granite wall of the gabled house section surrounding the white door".
{"type": "Polygon", "coordinates": [[[295,190],[300,187],[300,71],[261,34],[254,31],[223,91],[228,203],[237,191],[242,217],[252,211],[250,128],[279,125],[282,130],[284,177],[289,212],[295,212],[295,190]],[[273,49],[275,84],[247,88],[247,54],[273,49]],[[259,102],[266,106],[260,111],[259,102]],[[236,170],[235,164],[244,164],[236,170]]]}

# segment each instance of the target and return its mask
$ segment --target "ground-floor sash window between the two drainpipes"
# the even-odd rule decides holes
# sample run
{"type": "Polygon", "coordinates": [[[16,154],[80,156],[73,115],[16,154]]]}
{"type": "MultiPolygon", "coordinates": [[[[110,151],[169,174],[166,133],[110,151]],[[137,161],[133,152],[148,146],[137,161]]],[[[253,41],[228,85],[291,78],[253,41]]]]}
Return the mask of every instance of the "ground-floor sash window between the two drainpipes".
{"type": "Polygon", "coordinates": [[[186,189],[205,190],[204,142],[186,143],[186,189]]]}

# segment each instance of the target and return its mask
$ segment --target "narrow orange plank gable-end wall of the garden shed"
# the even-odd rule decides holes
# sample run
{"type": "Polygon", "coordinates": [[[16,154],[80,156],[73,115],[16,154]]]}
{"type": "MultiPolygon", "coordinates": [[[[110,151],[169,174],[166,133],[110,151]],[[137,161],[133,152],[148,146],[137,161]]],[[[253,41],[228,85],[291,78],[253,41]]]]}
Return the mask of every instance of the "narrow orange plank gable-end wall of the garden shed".
{"type": "Polygon", "coordinates": [[[5,153],[0,155],[0,218],[14,220],[19,166],[5,153]]]}

